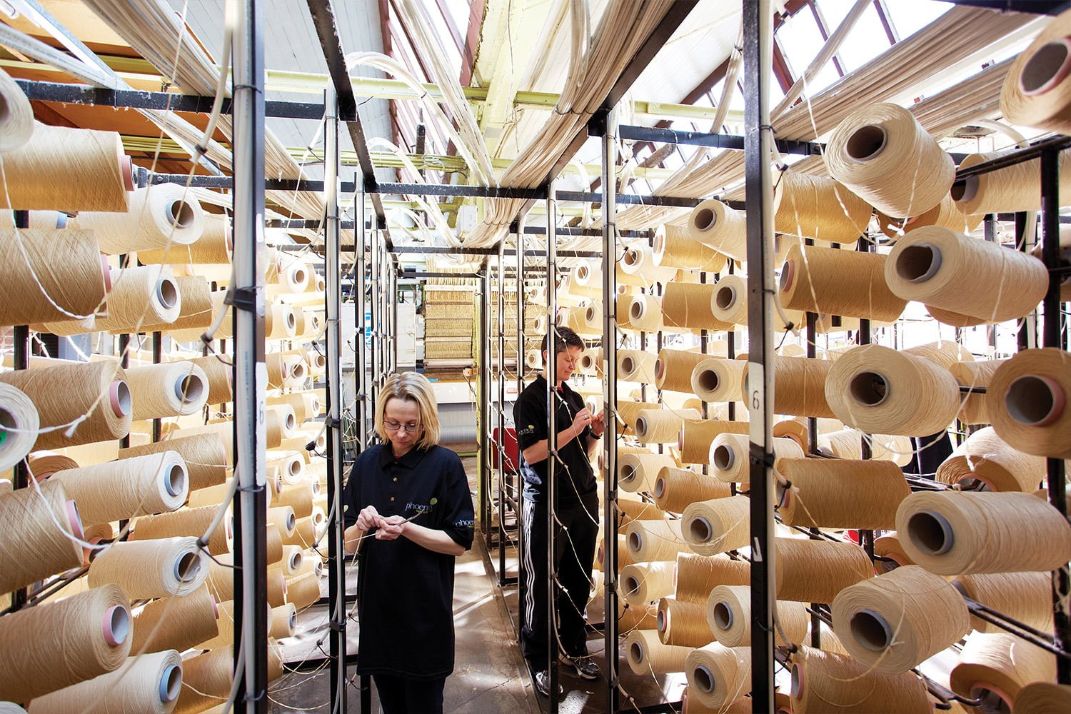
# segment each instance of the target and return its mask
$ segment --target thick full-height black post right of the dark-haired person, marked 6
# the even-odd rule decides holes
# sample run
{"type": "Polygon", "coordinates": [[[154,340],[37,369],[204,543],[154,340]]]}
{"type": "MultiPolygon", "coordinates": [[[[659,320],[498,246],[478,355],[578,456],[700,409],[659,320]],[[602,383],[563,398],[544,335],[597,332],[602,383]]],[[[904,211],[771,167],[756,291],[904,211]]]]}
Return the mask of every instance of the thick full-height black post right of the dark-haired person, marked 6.
{"type": "Polygon", "coordinates": [[[770,111],[773,14],[769,0],[743,3],[744,165],[748,201],[749,378],[751,412],[751,677],[752,707],[772,712],[773,601],[773,200],[770,111]]]}

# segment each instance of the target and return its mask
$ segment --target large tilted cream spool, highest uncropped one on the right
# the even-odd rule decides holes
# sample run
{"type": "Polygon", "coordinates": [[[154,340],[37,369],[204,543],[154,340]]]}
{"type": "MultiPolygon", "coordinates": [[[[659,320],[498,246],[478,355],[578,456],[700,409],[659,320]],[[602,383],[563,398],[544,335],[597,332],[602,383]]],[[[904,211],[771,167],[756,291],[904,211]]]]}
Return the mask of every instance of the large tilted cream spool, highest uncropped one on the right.
{"type": "Polygon", "coordinates": [[[951,156],[895,104],[862,107],[841,120],[825,158],[830,176],[889,215],[929,211],[955,179],[951,156]]]}

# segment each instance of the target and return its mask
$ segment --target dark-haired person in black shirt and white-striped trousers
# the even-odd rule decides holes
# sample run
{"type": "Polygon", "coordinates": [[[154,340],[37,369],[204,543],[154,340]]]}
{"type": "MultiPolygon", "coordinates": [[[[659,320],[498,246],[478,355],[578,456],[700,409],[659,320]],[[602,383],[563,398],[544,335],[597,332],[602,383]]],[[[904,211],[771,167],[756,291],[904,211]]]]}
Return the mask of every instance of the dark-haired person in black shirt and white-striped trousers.
{"type": "MultiPolygon", "coordinates": [[[[543,338],[543,364],[548,364],[548,337],[543,338]]],[[[591,590],[591,567],[599,533],[599,492],[591,470],[594,453],[606,427],[603,412],[593,415],[584,399],[565,383],[576,368],[584,340],[568,328],[556,332],[554,359],[557,406],[558,464],[555,489],[556,548],[554,553],[558,598],[560,659],[588,680],[600,674],[599,665],[588,654],[586,610],[591,590]]],[[[547,622],[547,456],[549,414],[547,413],[546,368],[517,397],[513,407],[524,476],[525,609],[521,651],[534,672],[536,688],[549,694],[547,642],[555,631],[547,622]]]]}

